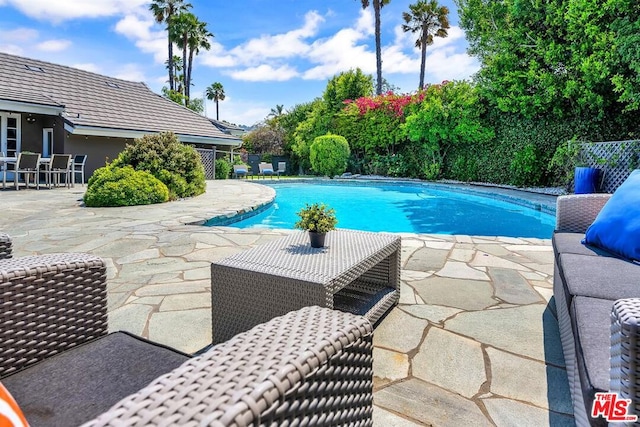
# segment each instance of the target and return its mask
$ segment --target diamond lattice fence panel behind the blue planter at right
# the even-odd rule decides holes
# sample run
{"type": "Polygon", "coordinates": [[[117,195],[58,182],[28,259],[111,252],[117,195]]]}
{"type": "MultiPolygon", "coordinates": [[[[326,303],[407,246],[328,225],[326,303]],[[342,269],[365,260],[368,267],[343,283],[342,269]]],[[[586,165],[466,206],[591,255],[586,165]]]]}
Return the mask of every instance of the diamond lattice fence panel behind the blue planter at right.
{"type": "Polygon", "coordinates": [[[600,189],[613,193],[640,168],[640,140],[583,142],[581,157],[585,166],[600,169],[600,189]]]}

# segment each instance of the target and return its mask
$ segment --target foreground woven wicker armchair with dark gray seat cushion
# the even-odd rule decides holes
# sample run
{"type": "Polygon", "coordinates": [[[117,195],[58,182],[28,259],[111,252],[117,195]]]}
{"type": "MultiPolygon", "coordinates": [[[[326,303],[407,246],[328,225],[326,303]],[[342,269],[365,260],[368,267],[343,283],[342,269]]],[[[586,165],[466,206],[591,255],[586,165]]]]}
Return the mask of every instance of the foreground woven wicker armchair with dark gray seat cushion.
{"type": "Polygon", "coordinates": [[[191,357],[107,335],[104,262],[0,260],[0,381],[37,425],[372,425],[372,328],[306,307],[191,357]]]}

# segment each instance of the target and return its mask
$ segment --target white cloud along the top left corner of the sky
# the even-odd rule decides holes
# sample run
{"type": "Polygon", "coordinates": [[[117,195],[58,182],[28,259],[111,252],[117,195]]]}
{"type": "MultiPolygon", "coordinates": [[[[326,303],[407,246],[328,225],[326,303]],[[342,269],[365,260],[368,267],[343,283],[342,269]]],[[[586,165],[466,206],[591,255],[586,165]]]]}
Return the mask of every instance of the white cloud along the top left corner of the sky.
{"type": "Polygon", "coordinates": [[[121,15],[146,8],[148,0],[3,0],[2,4],[13,6],[31,18],[62,22],[121,15]]]}

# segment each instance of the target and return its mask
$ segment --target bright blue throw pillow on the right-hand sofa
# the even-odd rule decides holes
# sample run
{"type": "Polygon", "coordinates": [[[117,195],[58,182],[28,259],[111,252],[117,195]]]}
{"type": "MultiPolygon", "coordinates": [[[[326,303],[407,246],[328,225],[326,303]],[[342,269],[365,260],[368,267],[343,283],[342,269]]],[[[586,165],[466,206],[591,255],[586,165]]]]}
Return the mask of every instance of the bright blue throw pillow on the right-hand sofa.
{"type": "Polygon", "coordinates": [[[640,261],[640,170],[635,170],[587,229],[584,243],[640,261]]]}

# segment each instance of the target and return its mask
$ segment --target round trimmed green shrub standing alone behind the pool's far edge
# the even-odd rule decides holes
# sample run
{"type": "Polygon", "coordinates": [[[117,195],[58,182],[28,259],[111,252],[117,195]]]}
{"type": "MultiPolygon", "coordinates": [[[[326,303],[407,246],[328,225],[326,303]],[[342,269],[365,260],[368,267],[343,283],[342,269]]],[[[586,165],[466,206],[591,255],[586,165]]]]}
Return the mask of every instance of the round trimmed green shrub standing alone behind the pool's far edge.
{"type": "Polygon", "coordinates": [[[347,169],[349,144],[339,135],[324,135],[313,140],[309,148],[309,159],[314,171],[333,178],[347,169]]]}

